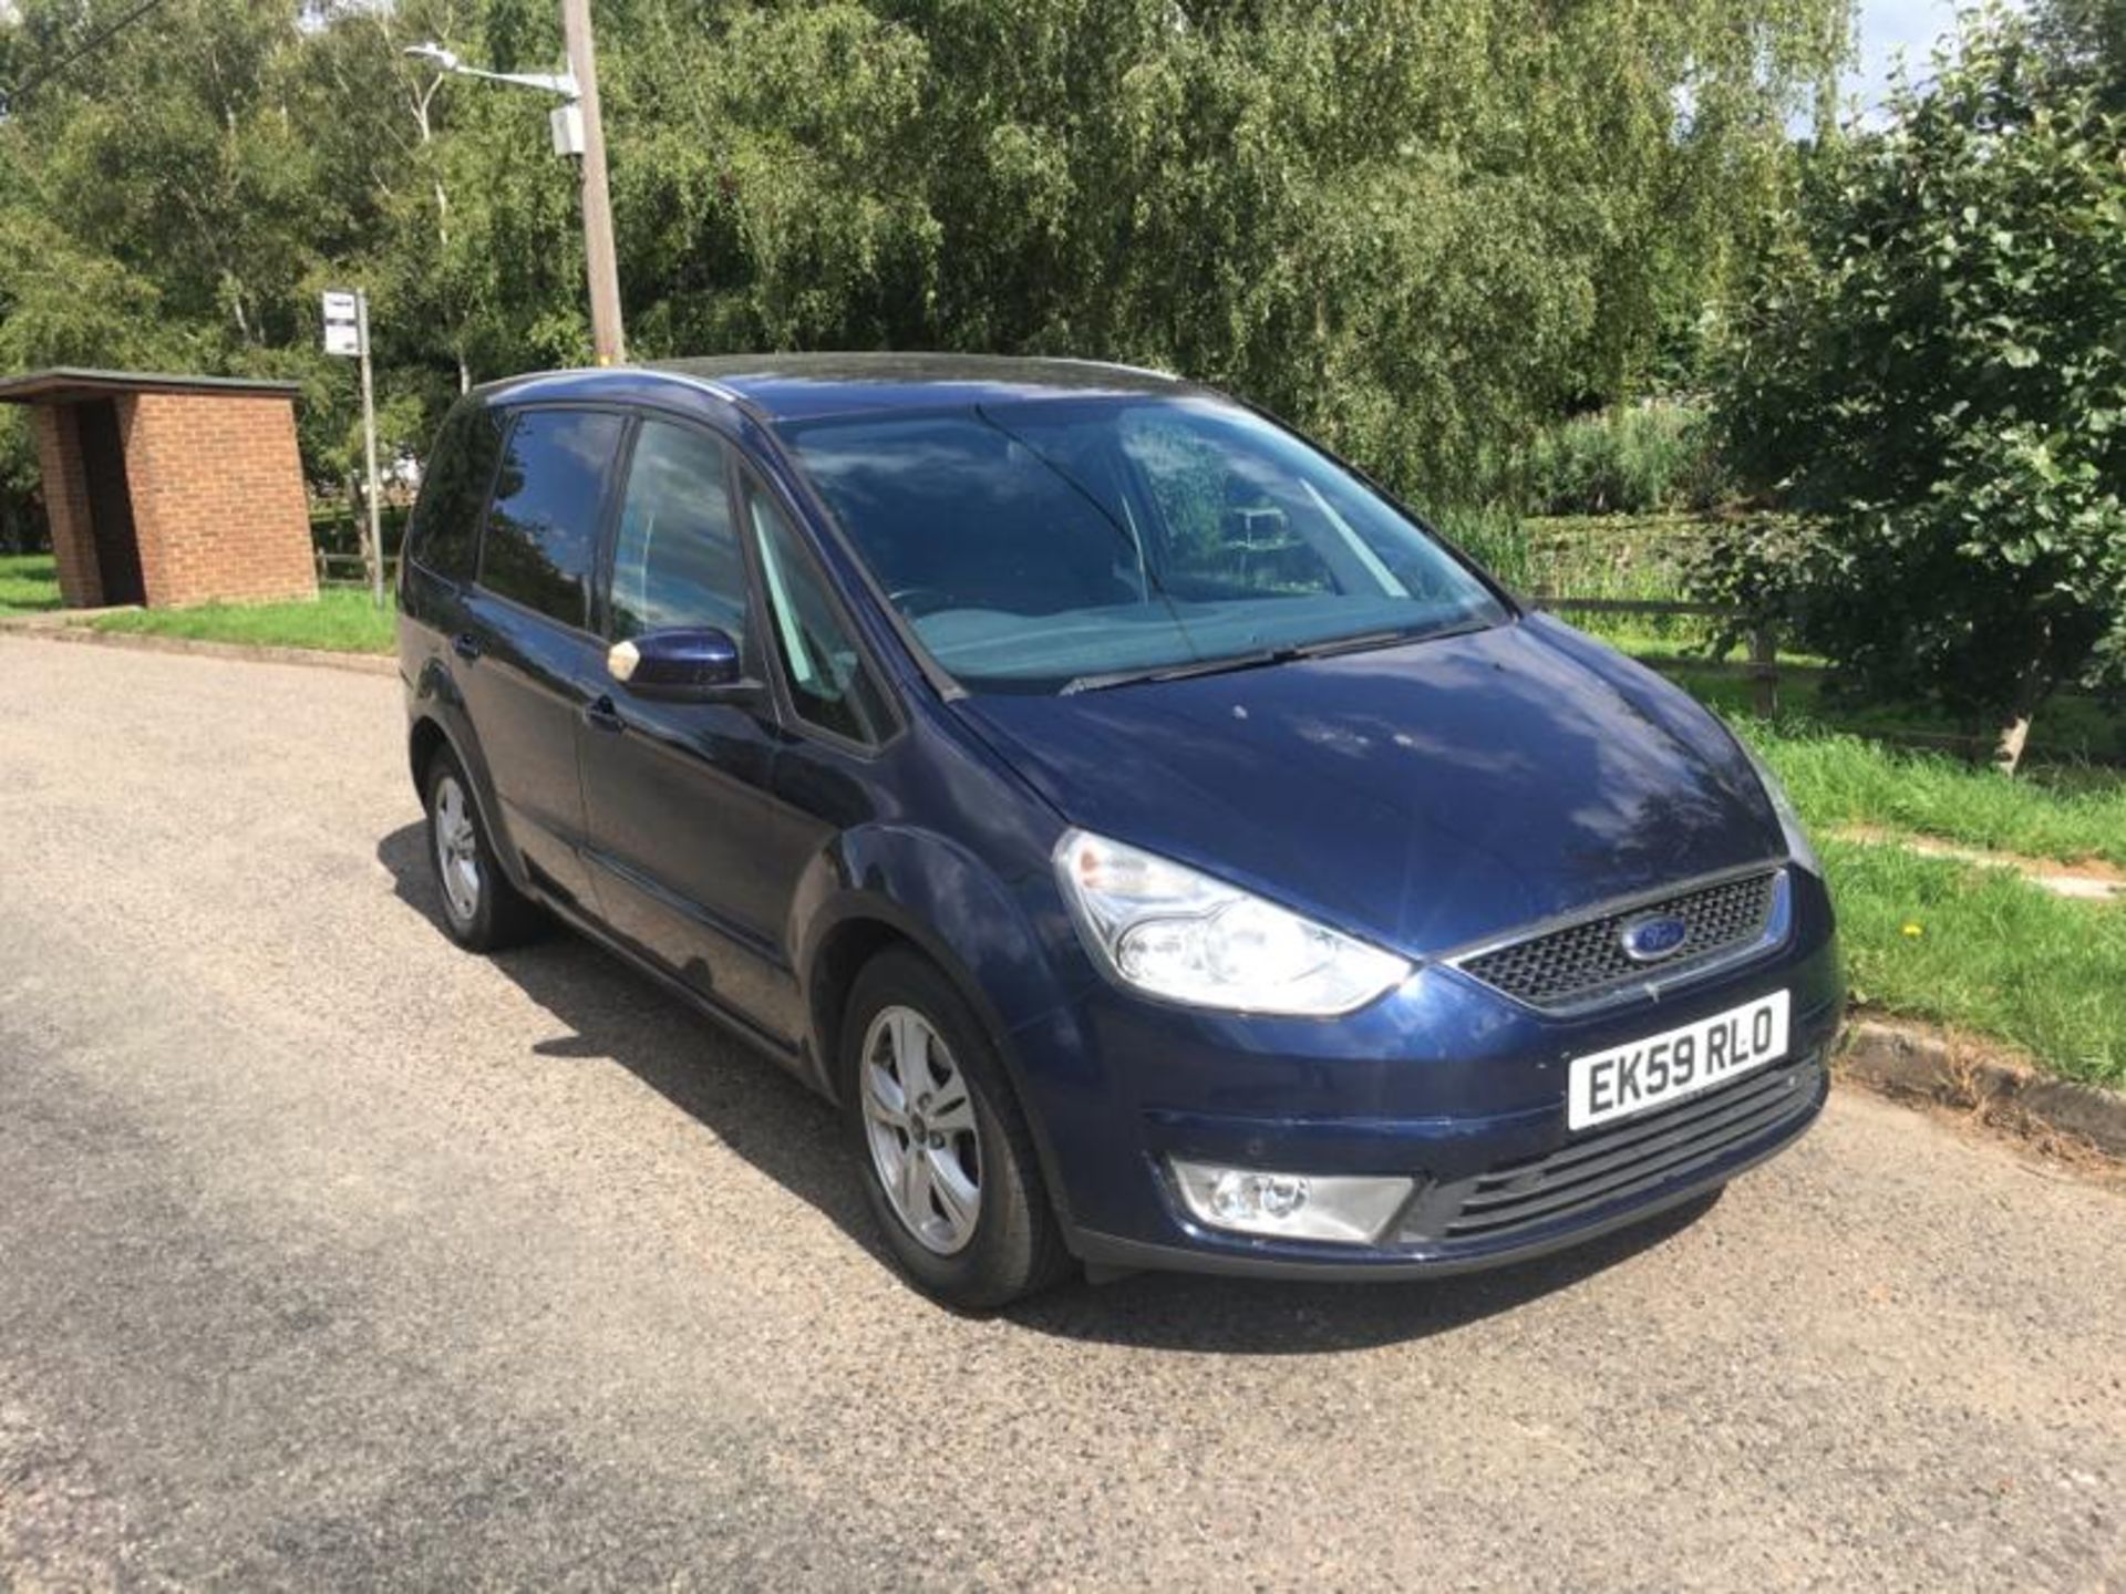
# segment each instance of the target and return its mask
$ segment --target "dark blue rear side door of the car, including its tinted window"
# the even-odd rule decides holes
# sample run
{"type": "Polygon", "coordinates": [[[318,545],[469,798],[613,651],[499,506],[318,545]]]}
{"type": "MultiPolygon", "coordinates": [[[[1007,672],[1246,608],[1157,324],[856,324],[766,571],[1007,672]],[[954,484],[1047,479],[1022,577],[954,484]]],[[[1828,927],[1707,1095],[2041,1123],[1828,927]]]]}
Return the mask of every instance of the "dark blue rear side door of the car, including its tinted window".
{"type": "Polygon", "coordinates": [[[604,678],[591,589],[627,421],[525,408],[510,421],[453,676],[502,823],[540,886],[595,912],[576,737],[604,678]]]}

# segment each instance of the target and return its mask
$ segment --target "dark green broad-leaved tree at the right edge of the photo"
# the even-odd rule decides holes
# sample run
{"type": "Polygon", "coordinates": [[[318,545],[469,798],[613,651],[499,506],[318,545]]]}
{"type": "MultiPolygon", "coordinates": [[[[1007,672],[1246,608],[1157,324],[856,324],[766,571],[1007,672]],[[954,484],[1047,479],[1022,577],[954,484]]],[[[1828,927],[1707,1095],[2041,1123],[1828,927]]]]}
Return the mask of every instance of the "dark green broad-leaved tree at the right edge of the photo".
{"type": "Polygon", "coordinates": [[[2126,682],[2126,121],[2015,13],[1833,142],[1739,319],[1728,444],[1805,521],[1709,595],[1977,723],[2126,682]]]}

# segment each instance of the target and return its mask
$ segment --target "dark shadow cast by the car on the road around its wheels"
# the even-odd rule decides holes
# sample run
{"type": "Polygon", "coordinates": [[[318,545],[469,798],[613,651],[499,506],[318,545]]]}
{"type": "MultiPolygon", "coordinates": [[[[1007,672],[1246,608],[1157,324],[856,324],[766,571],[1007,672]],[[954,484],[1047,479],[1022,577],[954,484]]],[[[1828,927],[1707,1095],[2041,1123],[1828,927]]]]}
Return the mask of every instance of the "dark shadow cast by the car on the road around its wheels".
{"type": "MultiPolygon", "coordinates": [[[[406,825],[376,844],[400,901],[442,935],[427,831],[406,825]]],[[[825,1214],[891,1267],[872,1228],[833,1107],[708,1018],[589,942],[557,933],[502,952],[493,965],[553,1014],[566,1039],[540,1056],[612,1058],[710,1129],[784,1190],[825,1214]]],[[[1065,1339],[1182,1352],[1297,1356],[1446,1333],[1660,1245],[1703,1218],[1718,1192],[1646,1224],[1518,1267],[1414,1284],[1284,1284],[1142,1273],[1116,1284],[1067,1284],[1014,1307],[1023,1328],[1065,1339]]]]}

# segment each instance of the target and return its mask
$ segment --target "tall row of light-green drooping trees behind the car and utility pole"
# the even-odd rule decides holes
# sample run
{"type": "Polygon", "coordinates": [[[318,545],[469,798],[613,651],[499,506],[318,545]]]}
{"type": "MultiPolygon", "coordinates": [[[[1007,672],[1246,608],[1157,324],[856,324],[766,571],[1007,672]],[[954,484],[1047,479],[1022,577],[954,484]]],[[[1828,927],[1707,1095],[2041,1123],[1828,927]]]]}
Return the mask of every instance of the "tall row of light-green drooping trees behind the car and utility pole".
{"type": "MultiPolygon", "coordinates": [[[[125,0],[19,0],[0,79],[125,0]]],[[[1788,185],[1845,0],[600,0],[638,357],[1074,353],[1235,387],[1469,495],[1673,378],[1788,185]],[[1688,91],[1688,117],[1677,115],[1688,91]]],[[[270,370],[357,461],[315,295],[368,287],[385,448],[580,361],[574,170],[523,0],[166,0],[0,128],[0,368],[270,370]]]]}

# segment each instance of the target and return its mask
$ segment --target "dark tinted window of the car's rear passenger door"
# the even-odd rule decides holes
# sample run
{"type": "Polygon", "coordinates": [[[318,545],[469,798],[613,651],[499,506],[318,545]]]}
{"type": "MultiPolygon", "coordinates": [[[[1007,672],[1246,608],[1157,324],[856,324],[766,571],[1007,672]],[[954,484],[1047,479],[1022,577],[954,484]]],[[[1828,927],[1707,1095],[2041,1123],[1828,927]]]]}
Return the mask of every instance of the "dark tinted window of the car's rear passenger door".
{"type": "Polygon", "coordinates": [[[525,410],[510,427],[480,544],[480,587],[566,625],[589,623],[597,510],[621,417],[525,410]]]}

